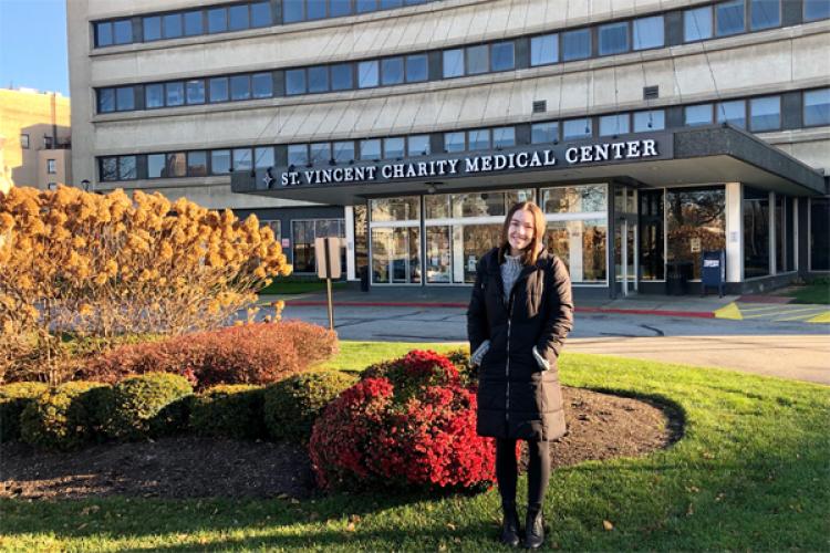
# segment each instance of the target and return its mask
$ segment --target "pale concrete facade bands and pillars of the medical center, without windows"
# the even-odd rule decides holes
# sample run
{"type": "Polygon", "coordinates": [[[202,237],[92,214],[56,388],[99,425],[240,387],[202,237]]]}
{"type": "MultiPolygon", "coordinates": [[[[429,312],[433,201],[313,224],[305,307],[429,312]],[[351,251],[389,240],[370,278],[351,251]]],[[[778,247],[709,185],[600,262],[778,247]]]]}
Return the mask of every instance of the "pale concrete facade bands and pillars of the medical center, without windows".
{"type": "MultiPolygon", "coordinates": [[[[685,42],[684,11],[717,3],[702,0],[444,0],[362,15],[94,48],[94,22],[133,18],[135,27],[143,15],[214,3],[68,1],[72,166],[76,179],[89,179],[100,190],[115,187],[160,190],[173,198],[186,195],[207,207],[229,207],[246,212],[281,207],[311,208],[301,195],[289,199],[278,194],[272,197],[234,194],[228,175],[164,179],[139,176],[104,182],[96,163],[105,156],[276,145],[276,165],[284,166],[284,147],[292,144],[416,134],[429,134],[432,143],[438,144],[436,138],[440,139],[447,132],[504,125],[516,126],[517,143],[521,144],[520,135],[529,135],[530,125],[537,122],[594,117],[593,135],[598,136],[599,116],[663,109],[666,128],[671,128],[683,125],[682,106],[780,95],[779,129],[757,136],[810,168],[830,171],[830,125],[805,126],[801,121],[805,91],[830,86],[827,62],[830,59],[830,19],[805,22],[803,2],[784,0],[779,24],[772,28],[751,31],[747,21],[746,32],[685,42]],[[584,27],[595,30],[608,22],[655,14],[665,20],[662,48],[538,66],[518,61],[527,60],[530,39],[535,35],[584,27]],[[515,41],[517,65],[513,70],[440,77],[442,50],[506,40],[515,41]],[[96,112],[96,90],[103,87],[135,86],[141,91],[148,83],[256,71],[274,71],[279,87],[284,84],[281,81],[284,70],[291,67],[416,52],[427,52],[429,56],[426,82],[294,96],[280,90],[273,97],[245,102],[96,112]],[[644,100],[644,88],[655,86],[656,97],[644,100]],[[535,111],[535,103],[541,101],[546,107],[535,111]]],[[[279,12],[282,2],[273,0],[270,4],[279,12]]],[[[746,8],[745,15],[748,18],[748,14],[749,8],[746,8]]],[[[596,36],[594,32],[594,49],[596,36]]],[[[718,182],[726,187],[727,231],[740,234],[744,185],[736,182],[728,171],[718,173],[717,167],[702,168],[707,170],[701,171],[698,184],[718,182]]],[[[672,184],[671,175],[666,175],[662,186],[672,184]]],[[[425,194],[427,187],[423,188],[425,194]]],[[[815,190],[803,194],[822,195],[815,190]]],[[[367,189],[366,197],[370,196],[372,192],[367,189]]],[[[334,202],[325,201],[324,197],[315,197],[313,201],[334,202]]],[[[796,230],[802,237],[808,232],[808,204],[805,197],[795,211],[799,213],[796,230]]],[[[609,209],[613,208],[609,205],[609,209]]],[[[352,220],[351,208],[346,208],[344,217],[352,220]]],[[[614,230],[613,218],[610,211],[609,236],[614,230]]],[[[353,240],[354,230],[351,225],[347,227],[346,237],[353,240]]],[[[350,251],[353,247],[350,242],[350,251]]],[[[613,244],[609,255],[612,248],[613,244]]],[[[727,263],[728,280],[741,283],[745,281],[743,260],[738,261],[744,255],[741,240],[730,242],[727,250],[733,260],[727,263]]],[[[803,259],[806,253],[799,250],[798,255],[803,259]]],[[[611,257],[608,264],[613,264],[611,257]]],[[[356,276],[353,268],[350,276],[356,276]]],[[[613,281],[612,274],[609,276],[612,290],[613,281]]]]}

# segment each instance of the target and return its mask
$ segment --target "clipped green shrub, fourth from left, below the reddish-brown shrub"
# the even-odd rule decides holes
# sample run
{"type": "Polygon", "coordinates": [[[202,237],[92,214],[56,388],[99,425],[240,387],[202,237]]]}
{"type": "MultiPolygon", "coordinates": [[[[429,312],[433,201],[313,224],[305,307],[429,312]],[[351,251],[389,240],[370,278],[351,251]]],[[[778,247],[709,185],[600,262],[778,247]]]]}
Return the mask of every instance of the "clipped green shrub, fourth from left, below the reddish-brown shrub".
{"type": "Polygon", "coordinates": [[[236,439],[264,437],[261,386],[248,384],[214,386],[196,396],[190,427],[203,436],[236,439]]]}

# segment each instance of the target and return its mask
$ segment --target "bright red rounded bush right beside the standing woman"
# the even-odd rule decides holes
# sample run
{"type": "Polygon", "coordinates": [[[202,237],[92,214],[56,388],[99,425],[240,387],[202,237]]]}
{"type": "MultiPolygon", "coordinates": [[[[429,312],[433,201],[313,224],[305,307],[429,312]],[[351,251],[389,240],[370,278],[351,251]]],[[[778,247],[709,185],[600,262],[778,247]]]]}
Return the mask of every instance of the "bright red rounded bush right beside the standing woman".
{"type": "Polygon", "coordinates": [[[326,489],[478,489],[495,480],[492,440],[476,434],[476,394],[434,352],[369,367],[329,404],[309,444],[326,489]]]}

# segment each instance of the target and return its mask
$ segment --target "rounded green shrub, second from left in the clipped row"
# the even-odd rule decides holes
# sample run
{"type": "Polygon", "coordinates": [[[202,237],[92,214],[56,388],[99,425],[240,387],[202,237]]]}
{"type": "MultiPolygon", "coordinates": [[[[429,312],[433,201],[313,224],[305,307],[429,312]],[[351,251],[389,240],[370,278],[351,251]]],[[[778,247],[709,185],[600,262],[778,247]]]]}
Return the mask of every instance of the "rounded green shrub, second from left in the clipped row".
{"type": "Polygon", "coordinates": [[[89,441],[100,427],[102,397],[107,388],[79,380],[46,390],[20,415],[23,441],[46,449],[71,449],[89,441]]]}

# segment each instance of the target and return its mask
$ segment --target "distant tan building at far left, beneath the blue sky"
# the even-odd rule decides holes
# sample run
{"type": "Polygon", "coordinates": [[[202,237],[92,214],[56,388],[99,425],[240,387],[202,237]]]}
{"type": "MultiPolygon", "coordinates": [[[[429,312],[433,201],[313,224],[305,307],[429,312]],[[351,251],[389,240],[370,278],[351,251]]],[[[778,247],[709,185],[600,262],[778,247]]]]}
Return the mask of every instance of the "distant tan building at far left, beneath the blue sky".
{"type": "Polygon", "coordinates": [[[0,188],[46,189],[72,182],[70,98],[56,92],[0,88],[0,188]]]}

